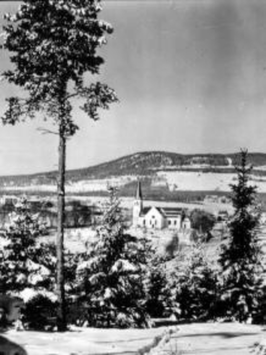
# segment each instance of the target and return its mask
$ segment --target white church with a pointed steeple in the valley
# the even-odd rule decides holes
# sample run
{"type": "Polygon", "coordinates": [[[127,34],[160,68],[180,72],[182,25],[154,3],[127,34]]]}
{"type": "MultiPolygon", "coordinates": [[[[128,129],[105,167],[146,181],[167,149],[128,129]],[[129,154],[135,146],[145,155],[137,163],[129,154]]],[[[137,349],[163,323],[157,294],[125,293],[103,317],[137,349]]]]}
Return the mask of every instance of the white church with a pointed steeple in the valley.
{"type": "Polygon", "coordinates": [[[191,229],[190,219],[186,215],[186,211],[182,208],[143,207],[140,181],[138,181],[136,196],[133,202],[132,225],[134,227],[151,229],[167,228],[177,231],[191,229]]]}

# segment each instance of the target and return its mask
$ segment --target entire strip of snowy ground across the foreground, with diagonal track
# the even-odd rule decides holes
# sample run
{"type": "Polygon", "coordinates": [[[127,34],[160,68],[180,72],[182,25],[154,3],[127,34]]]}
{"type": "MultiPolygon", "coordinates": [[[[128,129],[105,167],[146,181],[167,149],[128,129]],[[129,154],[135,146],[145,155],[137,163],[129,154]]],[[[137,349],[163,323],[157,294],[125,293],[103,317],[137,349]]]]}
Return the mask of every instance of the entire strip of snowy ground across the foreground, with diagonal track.
{"type": "MultiPolygon", "coordinates": [[[[152,355],[248,355],[255,343],[265,344],[265,335],[261,326],[239,323],[195,323],[125,330],[77,328],[61,334],[12,330],[5,334],[22,345],[28,355],[139,355],[149,352],[152,355]]],[[[264,355],[264,351],[265,347],[257,346],[253,354],[264,355]]]]}

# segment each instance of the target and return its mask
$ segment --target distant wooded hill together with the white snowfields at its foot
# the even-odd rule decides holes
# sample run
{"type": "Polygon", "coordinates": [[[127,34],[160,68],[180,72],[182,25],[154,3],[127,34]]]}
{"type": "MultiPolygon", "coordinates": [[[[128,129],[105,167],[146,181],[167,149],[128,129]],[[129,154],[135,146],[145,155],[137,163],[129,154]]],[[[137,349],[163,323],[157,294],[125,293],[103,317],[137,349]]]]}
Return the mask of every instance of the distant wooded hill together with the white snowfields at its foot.
{"type": "MultiPolygon", "coordinates": [[[[254,165],[252,184],[259,192],[266,192],[266,154],[250,153],[249,163],[254,165]]],[[[138,178],[146,181],[147,189],[165,191],[229,191],[234,182],[234,165],[239,154],[176,154],[142,152],[111,162],[66,173],[68,193],[107,191],[118,186],[126,196],[132,194],[138,178]],[[131,189],[131,190],[130,190],[131,189]]],[[[1,190],[55,192],[57,172],[34,175],[2,176],[1,190]]]]}

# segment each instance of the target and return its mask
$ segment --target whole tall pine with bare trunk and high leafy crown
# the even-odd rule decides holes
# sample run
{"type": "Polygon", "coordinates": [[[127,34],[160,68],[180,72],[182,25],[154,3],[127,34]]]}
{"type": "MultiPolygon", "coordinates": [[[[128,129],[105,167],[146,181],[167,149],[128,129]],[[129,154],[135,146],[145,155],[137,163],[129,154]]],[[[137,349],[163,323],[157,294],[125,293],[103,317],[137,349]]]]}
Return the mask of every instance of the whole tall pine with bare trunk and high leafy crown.
{"type": "Polygon", "coordinates": [[[6,14],[5,41],[14,69],[2,74],[9,83],[25,90],[21,97],[7,98],[4,124],[42,114],[59,136],[57,292],[58,329],[66,329],[64,288],[64,218],[66,141],[78,129],[72,118],[73,99],[93,120],[98,109],[117,100],[106,84],[86,83],[84,74],[98,74],[104,60],[96,49],[106,43],[112,26],[98,19],[100,0],[24,0],[15,15],[6,14]]]}

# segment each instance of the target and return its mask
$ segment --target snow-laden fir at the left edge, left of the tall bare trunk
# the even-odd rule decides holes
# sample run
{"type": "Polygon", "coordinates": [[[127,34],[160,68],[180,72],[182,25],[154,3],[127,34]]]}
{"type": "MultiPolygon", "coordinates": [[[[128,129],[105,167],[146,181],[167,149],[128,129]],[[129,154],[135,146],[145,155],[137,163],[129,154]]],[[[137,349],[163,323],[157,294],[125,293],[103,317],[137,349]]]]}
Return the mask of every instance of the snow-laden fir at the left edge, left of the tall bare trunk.
{"type": "Polygon", "coordinates": [[[45,225],[30,212],[26,198],[21,198],[10,214],[0,250],[0,285],[2,293],[18,293],[25,289],[49,289],[55,267],[50,248],[38,244],[45,225]]]}

